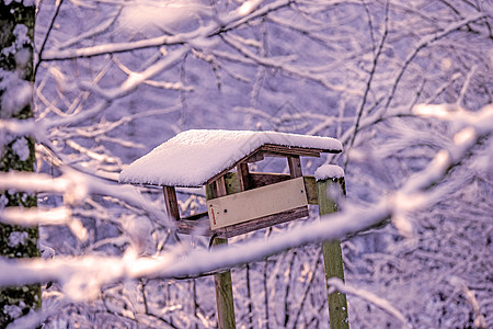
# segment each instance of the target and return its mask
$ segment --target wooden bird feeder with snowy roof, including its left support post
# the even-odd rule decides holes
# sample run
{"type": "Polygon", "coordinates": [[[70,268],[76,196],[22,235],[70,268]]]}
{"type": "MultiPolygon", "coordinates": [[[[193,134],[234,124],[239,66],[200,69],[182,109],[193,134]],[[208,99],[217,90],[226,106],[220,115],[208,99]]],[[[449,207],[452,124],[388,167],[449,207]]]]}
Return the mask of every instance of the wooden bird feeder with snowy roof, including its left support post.
{"type": "MultiPolygon", "coordinates": [[[[181,234],[228,238],[308,216],[318,204],[314,177],[303,175],[300,157],[342,151],[339,140],[277,132],[203,131],[177,134],[122,171],[123,183],[159,185],[168,215],[181,234]],[[289,173],[253,172],[249,164],[285,158],[289,173]],[[175,188],[205,186],[207,211],[182,216],[175,188]]],[[[216,274],[220,328],[234,327],[230,272],[216,274]],[[225,276],[226,275],[226,276],[225,276]],[[228,287],[229,286],[229,287],[228,287]],[[226,287],[226,288],[225,288],[226,287]]]]}

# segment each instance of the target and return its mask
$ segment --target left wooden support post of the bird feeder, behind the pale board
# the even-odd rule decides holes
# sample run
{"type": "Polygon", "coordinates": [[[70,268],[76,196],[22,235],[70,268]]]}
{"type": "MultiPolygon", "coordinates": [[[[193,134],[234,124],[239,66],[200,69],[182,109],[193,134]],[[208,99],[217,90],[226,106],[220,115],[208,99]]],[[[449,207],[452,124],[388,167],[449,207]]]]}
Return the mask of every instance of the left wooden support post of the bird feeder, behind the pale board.
{"type": "MultiPolygon", "coordinates": [[[[225,177],[215,181],[215,185],[206,189],[207,198],[225,196],[228,194],[225,177]]],[[[213,246],[228,245],[228,239],[214,238],[213,246]]],[[[216,288],[217,324],[219,329],[236,328],[234,300],[232,295],[231,271],[214,274],[216,288]]]]}

